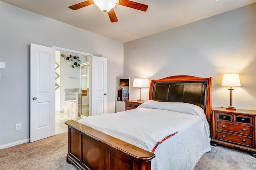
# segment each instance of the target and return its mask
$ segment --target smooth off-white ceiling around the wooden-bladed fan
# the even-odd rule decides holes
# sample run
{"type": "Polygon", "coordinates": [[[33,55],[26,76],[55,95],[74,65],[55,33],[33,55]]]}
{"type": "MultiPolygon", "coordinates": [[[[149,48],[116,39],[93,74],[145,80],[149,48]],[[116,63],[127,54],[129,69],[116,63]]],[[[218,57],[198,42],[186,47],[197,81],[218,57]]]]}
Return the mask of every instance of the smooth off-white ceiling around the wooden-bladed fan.
{"type": "Polygon", "coordinates": [[[256,0],[133,0],[148,5],[148,10],[142,12],[116,5],[114,10],[118,22],[111,23],[108,14],[100,11],[95,4],[78,10],[68,8],[85,0],[1,1],[123,43],[256,2],[256,0]]]}

